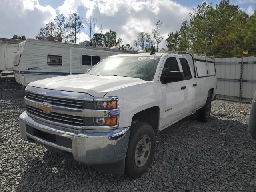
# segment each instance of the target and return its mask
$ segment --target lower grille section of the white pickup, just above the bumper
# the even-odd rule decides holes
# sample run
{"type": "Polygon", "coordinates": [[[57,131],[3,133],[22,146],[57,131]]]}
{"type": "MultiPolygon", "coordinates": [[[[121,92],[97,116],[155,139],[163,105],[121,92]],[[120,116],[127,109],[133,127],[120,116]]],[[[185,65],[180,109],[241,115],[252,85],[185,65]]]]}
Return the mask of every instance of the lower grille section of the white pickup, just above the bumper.
{"type": "Polygon", "coordinates": [[[26,110],[28,115],[32,115],[38,118],[42,118],[44,120],[49,120],[52,122],[58,122],[62,124],[67,124],[71,126],[84,126],[84,118],[60,113],[45,113],[42,109],[38,109],[32,106],[26,106],[26,110]]]}

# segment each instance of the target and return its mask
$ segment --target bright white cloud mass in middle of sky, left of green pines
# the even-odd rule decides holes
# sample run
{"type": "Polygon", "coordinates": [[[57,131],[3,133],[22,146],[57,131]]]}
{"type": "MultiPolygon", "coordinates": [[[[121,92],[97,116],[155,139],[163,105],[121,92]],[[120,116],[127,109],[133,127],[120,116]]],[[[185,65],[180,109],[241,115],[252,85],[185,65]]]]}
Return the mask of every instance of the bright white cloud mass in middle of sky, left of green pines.
{"type": "Polygon", "coordinates": [[[170,0],[94,0],[83,5],[86,16],[97,18],[97,28],[102,23],[103,32],[116,31],[124,44],[132,44],[139,32],[151,33],[157,20],[163,22],[162,35],[167,37],[168,32],[180,29],[190,12],[189,8],[170,0]]]}

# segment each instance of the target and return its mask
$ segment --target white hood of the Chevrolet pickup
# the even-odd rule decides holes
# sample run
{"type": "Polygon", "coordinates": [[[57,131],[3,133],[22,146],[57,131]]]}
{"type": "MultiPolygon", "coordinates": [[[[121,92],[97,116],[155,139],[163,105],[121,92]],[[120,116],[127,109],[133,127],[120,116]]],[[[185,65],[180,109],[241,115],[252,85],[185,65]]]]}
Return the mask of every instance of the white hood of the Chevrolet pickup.
{"type": "Polygon", "coordinates": [[[140,78],[132,77],[69,75],[34,81],[28,84],[28,86],[82,92],[88,93],[94,97],[103,97],[109,91],[144,82],[145,81],[140,78]]]}

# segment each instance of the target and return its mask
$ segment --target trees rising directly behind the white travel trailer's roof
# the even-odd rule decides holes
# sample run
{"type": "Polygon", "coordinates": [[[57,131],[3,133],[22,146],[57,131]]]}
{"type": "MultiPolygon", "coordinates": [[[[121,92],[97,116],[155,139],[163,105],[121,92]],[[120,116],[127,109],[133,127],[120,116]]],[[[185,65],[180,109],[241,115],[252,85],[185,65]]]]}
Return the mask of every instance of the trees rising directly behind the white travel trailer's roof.
{"type": "Polygon", "coordinates": [[[96,42],[98,46],[118,46],[122,50],[134,50],[130,44],[121,45],[122,39],[120,37],[117,38],[116,32],[113,30],[109,30],[109,32],[103,34],[101,27],[100,32],[96,32],[97,20],[93,16],[86,18],[85,24],[83,23],[83,18],[77,13],[70,14],[68,22],[66,22],[66,17],[63,14],[58,14],[54,18],[54,21],[55,24],[50,22],[46,24],[45,28],[40,28],[40,33],[36,36],[36,39],[76,43],[78,34],[86,25],[90,42],[96,42]]]}

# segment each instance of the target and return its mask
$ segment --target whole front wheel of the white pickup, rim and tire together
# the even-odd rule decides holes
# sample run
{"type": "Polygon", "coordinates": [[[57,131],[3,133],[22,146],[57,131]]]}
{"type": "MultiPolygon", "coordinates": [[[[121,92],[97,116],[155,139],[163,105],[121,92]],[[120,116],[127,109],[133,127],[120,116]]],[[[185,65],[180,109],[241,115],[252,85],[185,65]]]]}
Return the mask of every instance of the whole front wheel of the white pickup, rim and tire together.
{"type": "Polygon", "coordinates": [[[126,173],[136,178],[146,172],[154,157],[155,145],[155,133],[149,124],[133,124],[125,160],[126,173]]]}

